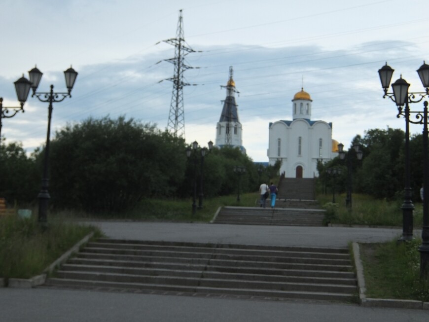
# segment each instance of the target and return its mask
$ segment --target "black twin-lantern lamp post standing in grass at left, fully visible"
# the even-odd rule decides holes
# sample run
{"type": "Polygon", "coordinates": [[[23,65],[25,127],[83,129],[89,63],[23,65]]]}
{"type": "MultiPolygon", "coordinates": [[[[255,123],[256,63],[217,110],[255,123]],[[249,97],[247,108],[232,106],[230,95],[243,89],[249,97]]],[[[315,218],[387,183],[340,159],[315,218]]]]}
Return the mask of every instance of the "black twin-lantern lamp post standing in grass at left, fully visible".
{"type": "Polygon", "coordinates": [[[38,209],[38,221],[39,223],[46,227],[47,226],[47,212],[48,212],[48,202],[50,199],[50,195],[48,192],[49,187],[49,176],[48,176],[48,168],[49,168],[49,142],[50,142],[50,133],[51,133],[51,116],[52,116],[52,103],[62,102],[66,99],[66,97],[72,97],[70,94],[72,92],[72,88],[74,85],[74,81],[77,77],[77,72],[70,67],[68,70],[64,71],[64,76],[66,77],[66,86],[67,92],[54,92],[54,85],[50,86],[49,92],[36,92],[39,82],[42,78],[43,73],[40,72],[37,67],[33,68],[29,71],[30,81],[32,83],[33,95],[40,102],[49,102],[48,106],[48,130],[46,134],[46,147],[45,147],[45,155],[43,161],[43,177],[41,182],[41,189],[38,194],[39,199],[39,209],[38,209]]]}

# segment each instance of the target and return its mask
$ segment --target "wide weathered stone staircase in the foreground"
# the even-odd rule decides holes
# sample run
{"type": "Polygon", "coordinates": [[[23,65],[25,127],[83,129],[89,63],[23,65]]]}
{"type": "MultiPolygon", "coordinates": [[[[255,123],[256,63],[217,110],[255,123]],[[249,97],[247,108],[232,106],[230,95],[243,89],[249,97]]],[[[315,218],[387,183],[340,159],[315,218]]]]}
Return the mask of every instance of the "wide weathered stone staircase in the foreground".
{"type": "Polygon", "coordinates": [[[353,301],[347,249],[99,239],[42,287],[353,301]]]}

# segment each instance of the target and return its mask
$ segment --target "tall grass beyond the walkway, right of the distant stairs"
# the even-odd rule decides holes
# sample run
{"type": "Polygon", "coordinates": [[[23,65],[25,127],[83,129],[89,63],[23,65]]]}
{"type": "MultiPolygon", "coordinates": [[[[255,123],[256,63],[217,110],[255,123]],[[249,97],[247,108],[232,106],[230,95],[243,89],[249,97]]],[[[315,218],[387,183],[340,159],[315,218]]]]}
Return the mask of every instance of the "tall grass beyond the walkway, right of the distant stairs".
{"type": "MultiPolygon", "coordinates": [[[[319,194],[317,199],[326,209],[326,221],[333,224],[369,225],[369,226],[402,226],[402,201],[374,199],[368,195],[353,194],[352,209],[346,207],[344,194],[335,196],[319,194]]],[[[414,205],[414,226],[423,225],[422,204],[414,205]]]]}

